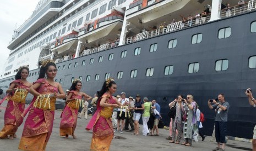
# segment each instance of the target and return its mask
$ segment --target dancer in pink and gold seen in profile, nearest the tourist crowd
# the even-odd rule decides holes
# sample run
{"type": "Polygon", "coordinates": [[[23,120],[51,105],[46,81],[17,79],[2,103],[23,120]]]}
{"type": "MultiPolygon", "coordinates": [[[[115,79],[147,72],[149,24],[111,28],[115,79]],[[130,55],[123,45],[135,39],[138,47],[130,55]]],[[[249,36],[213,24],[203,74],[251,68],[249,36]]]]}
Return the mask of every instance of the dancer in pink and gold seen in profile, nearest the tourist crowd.
{"type": "MultiPolygon", "coordinates": [[[[112,95],[116,92],[117,85],[113,79],[108,78],[99,92],[97,111],[91,118],[86,130],[93,128],[91,149],[93,151],[105,151],[110,149],[114,131],[111,121],[113,108],[120,108],[121,103],[112,95]]],[[[126,106],[124,104],[124,106],[126,106]]]]}

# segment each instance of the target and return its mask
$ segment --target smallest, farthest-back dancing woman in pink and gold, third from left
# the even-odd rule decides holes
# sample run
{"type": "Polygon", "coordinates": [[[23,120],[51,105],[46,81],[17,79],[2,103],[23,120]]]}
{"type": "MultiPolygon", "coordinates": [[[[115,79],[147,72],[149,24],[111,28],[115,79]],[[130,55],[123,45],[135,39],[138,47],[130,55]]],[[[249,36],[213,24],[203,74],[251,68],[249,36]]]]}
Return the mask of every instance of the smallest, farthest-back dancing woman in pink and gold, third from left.
{"type": "Polygon", "coordinates": [[[80,92],[81,88],[81,81],[75,79],[70,87],[66,100],[67,106],[64,108],[61,116],[61,125],[59,126],[59,135],[66,136],[65,138],[68,138],[68,135],[72,135],[74,139],[76,138],[74,131],[77,126],[78,109],[83,105],[81,98],[84,97],[86,100],[91,100],[92,98],[84,92],[80,92]]]}

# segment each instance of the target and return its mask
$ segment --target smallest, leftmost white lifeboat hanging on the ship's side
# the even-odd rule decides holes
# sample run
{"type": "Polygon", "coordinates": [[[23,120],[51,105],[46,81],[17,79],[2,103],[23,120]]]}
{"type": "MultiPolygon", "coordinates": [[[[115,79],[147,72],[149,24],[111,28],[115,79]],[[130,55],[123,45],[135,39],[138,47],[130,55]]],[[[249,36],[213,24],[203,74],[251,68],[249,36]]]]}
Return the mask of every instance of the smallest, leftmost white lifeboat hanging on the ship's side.
{"type": "Polygon", "coordinates": [[[78,34],[68,34],[61,38],[57,38],[55,44],[51,45],[51,51],[57,55],[74,54],[77,49],[78,34]]]}

